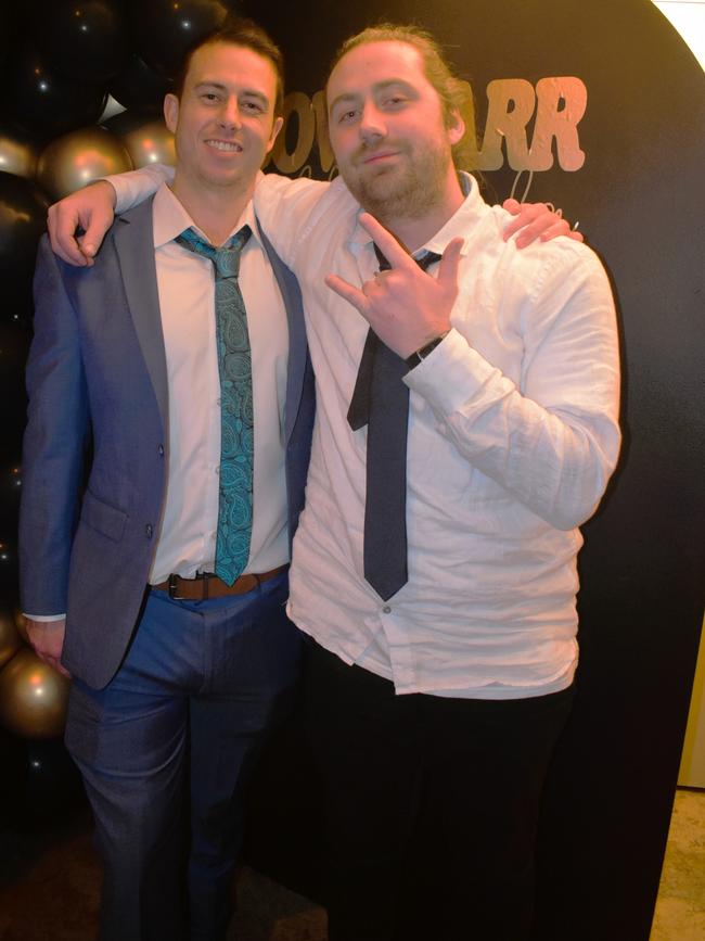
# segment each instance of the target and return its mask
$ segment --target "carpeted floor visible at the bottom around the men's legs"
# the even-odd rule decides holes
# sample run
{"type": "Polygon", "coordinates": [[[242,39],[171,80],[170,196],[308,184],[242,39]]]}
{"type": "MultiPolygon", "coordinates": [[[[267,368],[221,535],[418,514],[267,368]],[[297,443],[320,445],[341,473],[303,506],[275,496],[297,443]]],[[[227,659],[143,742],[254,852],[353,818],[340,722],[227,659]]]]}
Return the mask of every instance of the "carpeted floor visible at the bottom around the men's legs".
{"type": "MultiPolygon", "coordinates": [[[[3,844],[0,941],[91,941],[99,876],[88,817],[3,844]],[[34,840],[34,842],[33,842],[34,840]]],[[[244,867],[228,941],[325,941],[322,908],[244,867]]],[[[679,790],[651,941],[705,941],[705,791],[679,790]]]]}

